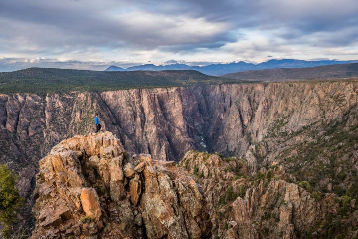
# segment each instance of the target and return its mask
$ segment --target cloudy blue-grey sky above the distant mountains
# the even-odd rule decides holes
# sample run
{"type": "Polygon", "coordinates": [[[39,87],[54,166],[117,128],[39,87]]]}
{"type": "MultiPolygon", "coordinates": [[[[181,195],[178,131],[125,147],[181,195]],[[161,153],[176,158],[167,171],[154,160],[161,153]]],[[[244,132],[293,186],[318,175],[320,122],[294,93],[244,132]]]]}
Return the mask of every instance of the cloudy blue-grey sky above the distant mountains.
{"type": "Polygon", "coordinates": [[[358,0],[0,0],[0,72],[358,59],[358,0]]]}

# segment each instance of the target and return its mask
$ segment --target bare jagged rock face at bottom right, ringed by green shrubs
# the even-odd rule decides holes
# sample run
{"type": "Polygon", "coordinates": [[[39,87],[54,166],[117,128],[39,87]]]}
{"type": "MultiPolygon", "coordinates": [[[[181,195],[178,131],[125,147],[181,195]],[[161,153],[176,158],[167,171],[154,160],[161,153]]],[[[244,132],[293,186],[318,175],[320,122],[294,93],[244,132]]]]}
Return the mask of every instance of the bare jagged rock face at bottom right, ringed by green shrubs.
{"type": "Polygon", "coordinates": [[[264,180],[258,182],[232,204],[238,235],[296,239],[324,219],[321,203],[296,184],[283,180],[264,184],[264,180]]]}

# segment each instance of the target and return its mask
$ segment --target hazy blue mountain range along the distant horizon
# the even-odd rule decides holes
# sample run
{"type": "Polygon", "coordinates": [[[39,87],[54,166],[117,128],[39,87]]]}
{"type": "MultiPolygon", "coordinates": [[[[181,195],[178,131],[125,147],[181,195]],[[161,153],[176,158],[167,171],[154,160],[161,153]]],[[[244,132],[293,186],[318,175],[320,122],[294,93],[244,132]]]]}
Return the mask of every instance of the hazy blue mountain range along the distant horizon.
{"type": "Polygon", "coordinates": [[[336,65],[345,63],[357,63],[358,61],[337,61],[337,60],[323,60],[323,61],[305,61],[295,59],[281,59],[269,60],[259,64],[246,63],[243,61],[233,62],[227,64],[211,64],[207,66],[188,66],[185,64],[170,64],[170,65],[153,65],[145,64],[128,67],[126,69],[110,66],[104,71],[163,71],[163,70],[196,70],[206,75],[220,76],[229,73],[250,70],[276,69],[276,68],[306,68],[324,65],[336,65]]]}

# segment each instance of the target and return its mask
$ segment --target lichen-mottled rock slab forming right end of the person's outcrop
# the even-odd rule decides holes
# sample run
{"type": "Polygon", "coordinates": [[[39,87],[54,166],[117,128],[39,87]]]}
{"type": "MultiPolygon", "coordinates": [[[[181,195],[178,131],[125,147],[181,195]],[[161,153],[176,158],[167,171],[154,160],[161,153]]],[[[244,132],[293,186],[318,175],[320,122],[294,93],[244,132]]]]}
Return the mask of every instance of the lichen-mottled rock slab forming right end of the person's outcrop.
{"type": "Polygon", "coordinates": [[[161,161],[152,161],[143,175],[145,191],[141,207],[149,239],[210,237],[211,222],[204,209],[205,201],[190,177],[177,167],[166,167],[161,161]]]}

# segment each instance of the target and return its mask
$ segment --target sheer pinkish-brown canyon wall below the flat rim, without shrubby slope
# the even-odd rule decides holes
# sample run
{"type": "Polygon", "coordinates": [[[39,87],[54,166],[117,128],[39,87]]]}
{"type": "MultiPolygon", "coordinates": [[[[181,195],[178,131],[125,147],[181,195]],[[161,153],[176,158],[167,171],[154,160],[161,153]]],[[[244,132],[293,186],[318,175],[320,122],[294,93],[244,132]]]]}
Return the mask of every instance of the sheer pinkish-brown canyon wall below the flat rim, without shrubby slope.
{"type": "MultiPolygon", "coordinates": [[[[358,83],[351,81],[0,95],[1,140],[20,155],[19,161],[36,165],[60,140],[93,132],[99,112],[103,128],[133,153],[179,161],[187,151],[205,146],[244,156],[250,144],[271,133],[274,122],[283,120],[276,126],[295,132],[316,121],[357,114],[357,91],[358,83]],[[27,155],[25,148],[38,150],[27,155]]],[[[348,125],[357,123],[353,115],[348,125]]],[[[0,152],[1,160],[10,156],[0,152]]]]}

